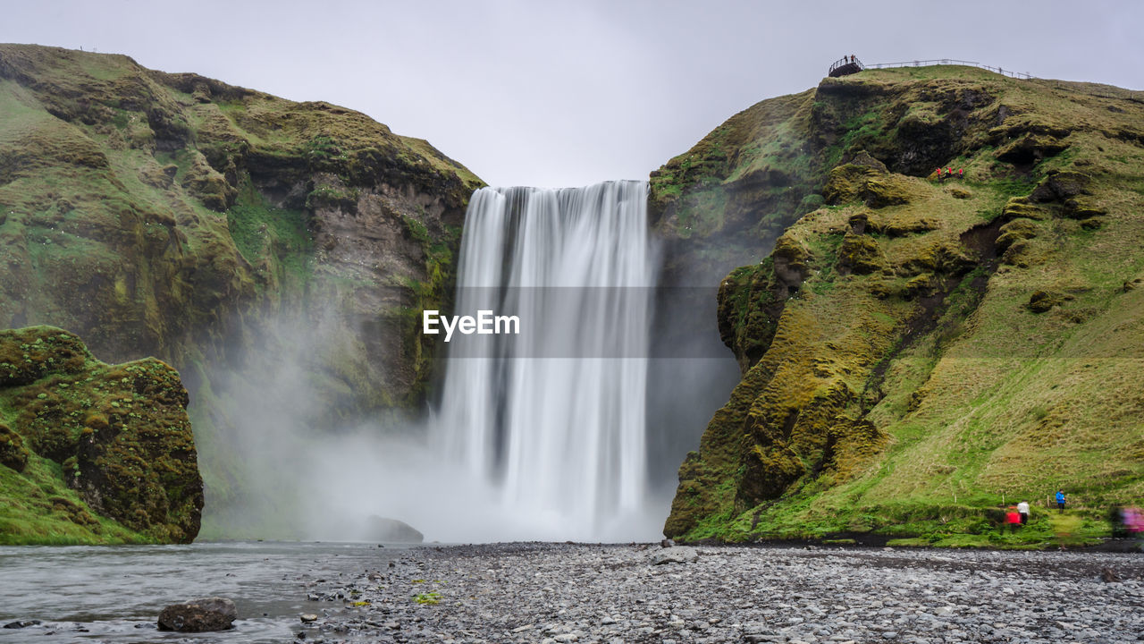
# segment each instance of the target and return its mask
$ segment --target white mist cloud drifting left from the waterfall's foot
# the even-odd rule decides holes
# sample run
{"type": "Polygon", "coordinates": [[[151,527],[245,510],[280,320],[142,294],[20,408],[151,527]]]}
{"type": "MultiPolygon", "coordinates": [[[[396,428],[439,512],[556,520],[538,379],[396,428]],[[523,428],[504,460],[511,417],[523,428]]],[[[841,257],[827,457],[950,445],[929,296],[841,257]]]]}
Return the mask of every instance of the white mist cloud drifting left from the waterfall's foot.
{"type": "Polygon", "coordinates": [[[256,343],[229,347],[205,377],[188,378],[207,487],[200,539],[388,541],[379,518],[408,524],[427,542],[661,539],[674,486],[594,525],[522,513],[431,440],[429,407],[353,418],[340,408],[348,385],[324,375],[328,356],[352,344],[345,331],[333,313],[263,321],[247,332],[256,343]],[[337,416],[344,421],[329,421],[337,416]]]}

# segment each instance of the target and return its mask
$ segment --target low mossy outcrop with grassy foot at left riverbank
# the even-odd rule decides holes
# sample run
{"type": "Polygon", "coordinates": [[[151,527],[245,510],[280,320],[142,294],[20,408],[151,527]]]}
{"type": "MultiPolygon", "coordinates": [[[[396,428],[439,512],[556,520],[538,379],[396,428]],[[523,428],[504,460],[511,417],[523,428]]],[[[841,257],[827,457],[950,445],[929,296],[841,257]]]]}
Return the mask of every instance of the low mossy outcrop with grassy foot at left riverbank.
{"type": "Polygon", "coordinates": [[[190,543],[202,479],[178,374],[104,364],[53,327],[0,331],[0,543],[190,543]]]}

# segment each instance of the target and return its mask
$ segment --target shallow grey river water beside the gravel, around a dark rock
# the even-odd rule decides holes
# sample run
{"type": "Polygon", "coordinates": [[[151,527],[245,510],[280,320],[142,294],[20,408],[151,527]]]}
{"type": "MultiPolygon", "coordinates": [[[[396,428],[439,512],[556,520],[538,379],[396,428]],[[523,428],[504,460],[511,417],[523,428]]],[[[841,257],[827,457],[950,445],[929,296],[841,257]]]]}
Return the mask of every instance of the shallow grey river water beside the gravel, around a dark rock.
{"type": "Polygon", "coordinates": [[[316,582],[380,570],[408,547],[376,543],[215,542],[191,545],[0,547],[0,643],[289,642],[316,582]],[[235,602],[228,631],[160,633],[159,611],[196,597],[235,602]]]}

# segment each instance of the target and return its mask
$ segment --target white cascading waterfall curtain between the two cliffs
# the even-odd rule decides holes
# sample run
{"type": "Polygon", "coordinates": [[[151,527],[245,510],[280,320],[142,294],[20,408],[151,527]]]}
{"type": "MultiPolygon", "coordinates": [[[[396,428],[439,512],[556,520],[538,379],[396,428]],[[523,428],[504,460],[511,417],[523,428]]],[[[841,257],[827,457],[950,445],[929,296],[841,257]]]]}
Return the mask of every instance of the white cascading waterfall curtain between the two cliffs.
{"type": "Polygon", "coordinates": [[[522,330],[454,336],[434,433],[526,526],[501,537],[615,537],[641,510],[654,273],[644,182],[472,195],[455,312],[522,330]]]}

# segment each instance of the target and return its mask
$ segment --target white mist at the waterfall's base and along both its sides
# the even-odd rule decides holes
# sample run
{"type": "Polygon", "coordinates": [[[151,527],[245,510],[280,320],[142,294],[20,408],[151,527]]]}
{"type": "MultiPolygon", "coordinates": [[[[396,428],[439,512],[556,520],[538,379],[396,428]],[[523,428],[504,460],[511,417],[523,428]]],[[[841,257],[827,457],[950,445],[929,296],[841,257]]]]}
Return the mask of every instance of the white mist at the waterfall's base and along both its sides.
{"type": "MultiPolygon", "coordinates": [[[[657,265],[665,261],[661,251],[652,249],[657,265]]],[[[680,269],[684,259],[674,261],[680,269]]],[[[201,537],[387,541],[379,519],[392,519],[430,542],[658,541],[678,466],[688,451],[698,449],[712,415],[738,383],[739,370],[720,340],[715,288],[659,286],[648,292],[654,313],[651,327],[638,332],[650,343],[638,355],[622,359],[638,360],[646,369],[646,393],[633,394],[645,418],[644,485],[626,509],[597,512],[591,520],[562,512],[557,503],[531,503],[525,510],[498,476],[466,463],[456,445],[448,443],[456,439],[440,431],[440,423],[463,423],[463,409],[446,421],[432,405],[412,410],[363,405],[372,392],[355,385],[345,356],[360,354],[363,338],[375,341],[389,331],[355,322],[333,298],[320,313],[237,324],[228,346],[202,358],[199,371],[186,378],[206,482],[201,537]]],[[[558,341],[549,338],[541,345],[553,348],[558,341]]],[[[587,358],[577,355],[556,360],[587,358]]],[[[444,382],[460,367],[455,362],[438,360],[436,379],[444,382]]],[[[372,367],[383,380],[388,377],[384,364],[372,367]]],[[[505,395],[484,388],[474,393],[505,395]]],[[[549,429],[543,421],[530,426],[549,429]]],[[[588,482],[575,473],[556,480],[566,486],[561,497],[588,482]]]]}

